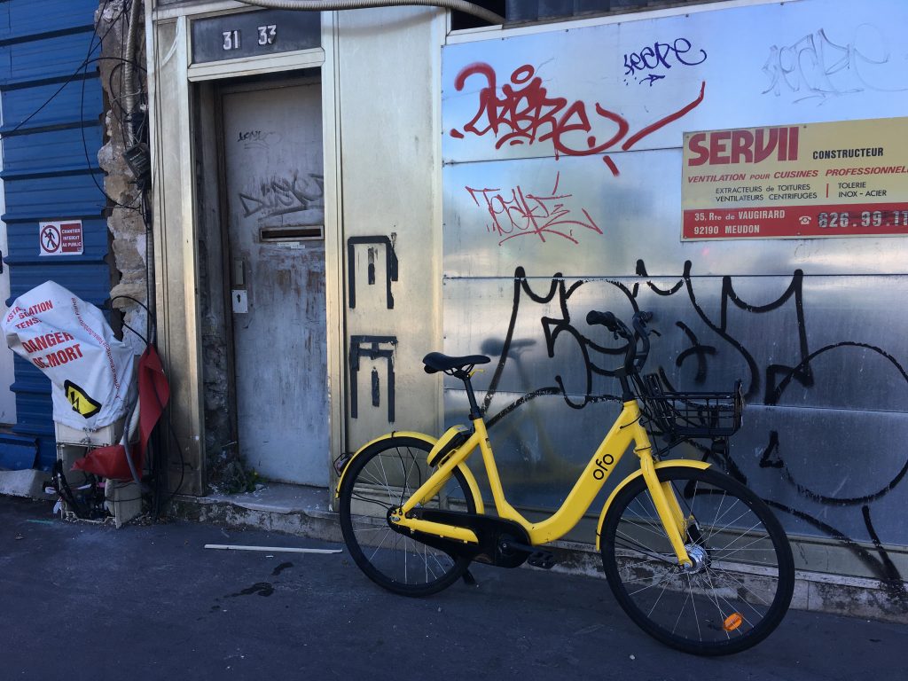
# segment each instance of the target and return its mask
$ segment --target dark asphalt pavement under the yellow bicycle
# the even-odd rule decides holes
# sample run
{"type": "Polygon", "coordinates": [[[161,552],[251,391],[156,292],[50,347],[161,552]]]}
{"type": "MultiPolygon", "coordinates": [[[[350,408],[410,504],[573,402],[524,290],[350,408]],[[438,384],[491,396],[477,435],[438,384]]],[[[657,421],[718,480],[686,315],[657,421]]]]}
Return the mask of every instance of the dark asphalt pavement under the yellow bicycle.
{"type": "Polygon", "coordinates": [[[0,679],[903,678],[908,626],[792,611],[763,644],[700,658],[650,639],[607,584],[537,569],[472,568],[415,599],[343,548],[174,521],[115,529],[0,497],[0,679]]]}

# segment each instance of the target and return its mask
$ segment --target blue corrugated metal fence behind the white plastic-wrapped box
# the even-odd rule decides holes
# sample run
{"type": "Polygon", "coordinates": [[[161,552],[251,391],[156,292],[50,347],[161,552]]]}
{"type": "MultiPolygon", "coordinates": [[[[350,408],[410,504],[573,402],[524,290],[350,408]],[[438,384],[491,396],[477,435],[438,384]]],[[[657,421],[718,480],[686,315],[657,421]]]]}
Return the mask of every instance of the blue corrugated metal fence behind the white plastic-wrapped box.
{"type": "MultiPolygon", "coordinates": [[[[12,298],[47,280],[99,306],[110,295],[104,173],[97,162],[104,113],[97,6],[97,0],[0,2],[4,260],[12,298]],[[42,257],[38,222],[76,218],[83,221],[84,253],[42,257]]],[[[27,465],[49,469],[56,457],[50,383],[17,357],[12,388],[16,423],[14,436],[0,438],[0,468],[22,467],[23,451],[36,440],[36,460],[27,465]]]]}

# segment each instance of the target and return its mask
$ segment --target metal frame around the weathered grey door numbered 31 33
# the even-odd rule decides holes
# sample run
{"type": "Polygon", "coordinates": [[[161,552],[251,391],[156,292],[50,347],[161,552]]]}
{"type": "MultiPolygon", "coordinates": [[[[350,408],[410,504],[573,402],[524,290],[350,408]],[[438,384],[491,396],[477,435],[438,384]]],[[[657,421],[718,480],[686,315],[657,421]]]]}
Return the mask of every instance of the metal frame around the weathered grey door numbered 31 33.
{"type": "MultiPolygon", "coordinates": [[[[170,488],[203,495],[205,470],[202,319],[197,300],[200,255],[195,188],[197,131],[192,121],[193,84],[242,75],[321,69],[322,155],[325,194],[325,298],[328,334],[329,456],[345,449],[343,405],[343,287],[340,112],[337,101],[337,13],[321,13],[321,47],[266,58],[238,59],[216,67],[191,64],[191,19],[223,14],[224,8],[190,5],[159,11],[145,5],[151,146],[154,176],[154,263],[158,337],[164,369],[172,382],[167,415],[170,488]],[[220,11],[217,11],[220,9],[220,11]],[[164,105],[166,103],[166,105],[164,105]]],[[[244,8],[245,9],[245,8],[244,8]]],[[[253,10],[254,11],[254,10],[253,10]]]]}

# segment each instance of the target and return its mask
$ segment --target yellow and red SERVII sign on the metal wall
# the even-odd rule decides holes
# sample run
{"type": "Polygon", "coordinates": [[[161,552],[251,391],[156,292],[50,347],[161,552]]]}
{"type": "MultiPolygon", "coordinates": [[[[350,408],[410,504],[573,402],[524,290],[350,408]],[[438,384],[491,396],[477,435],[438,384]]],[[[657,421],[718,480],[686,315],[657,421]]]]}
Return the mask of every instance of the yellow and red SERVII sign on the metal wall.
{"type": "Polygon", "coordinates": [[[685,133],[682,240],[908,234],[908,118],[685,133]]]}

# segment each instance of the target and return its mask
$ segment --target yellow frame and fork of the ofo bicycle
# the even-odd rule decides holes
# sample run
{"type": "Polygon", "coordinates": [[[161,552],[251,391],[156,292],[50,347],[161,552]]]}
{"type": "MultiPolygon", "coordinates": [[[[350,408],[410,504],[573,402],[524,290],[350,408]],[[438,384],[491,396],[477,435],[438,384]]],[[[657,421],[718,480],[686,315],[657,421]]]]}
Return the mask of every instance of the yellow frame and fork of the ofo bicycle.
{"type": "MultiPolygon", "coordinates": [[[[617,467],[618,461],[633,444],[634,453],[637,454],[639,459],[640,471],[628,476],[618,488],[642,473],[644,479],[646,479],[646,487],[653,498],[656,513],[666,529],[672,548],[675,549],[679,565],[692,565],[682,539],[686,528],[686,518],[677,503],[674,491],[667,483],[660,484],[656,477],[656,463],[652,456],[652,445],[646,429],[640,425],[640,407],[637,404],[637,400],[624,402],[621,414],[599,444],[592,459],[587,463],[587,467],[581,473],[580,478],[577,479],[577,483],[571,489],[568,498],[549,518],[537,523],[530,522],[527,518],[520,515],[518,510],[512,507],[508,503],[507,498],[505,498],[485,421],[481,418],[474,419],[473,428],[473,434],[469,439],[458,449],[455,449],[447,459],[442,461],[439,468],[403,504],[400,508],[400,514],[395,514],[394,520],[397,525],[436,537],[455,539],[465,543],[479,543],[476,534],[469,528],[408,517],[410,511],[434,497],[451,477],[454,469],[466,461],[479,448],[489,477],[489,487],[491,488],[498,516],[513,520],[525,528],[533,546],[554,541],[564,537],[577,525],[580,518],[583,518],[599,490],[602,489],[612,471],[617,467]]],[[[608,503],[603,511],[603,517],[607,512],[607,508],[608,503]]]]}

